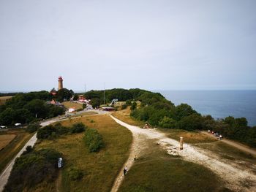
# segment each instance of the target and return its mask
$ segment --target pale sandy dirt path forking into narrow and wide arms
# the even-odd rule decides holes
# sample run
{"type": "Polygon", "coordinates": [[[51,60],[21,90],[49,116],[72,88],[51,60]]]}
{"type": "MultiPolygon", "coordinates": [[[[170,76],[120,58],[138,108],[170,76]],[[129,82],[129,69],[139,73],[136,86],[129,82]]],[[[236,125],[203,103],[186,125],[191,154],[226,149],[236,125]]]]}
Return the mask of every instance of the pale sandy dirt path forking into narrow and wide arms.
{"type": "MultiPolygon", "coordinates": [[[[117,118],[114,118],[112,115],[110,115],[110,117],[113,118],[113,120],[116,120],[116,123],[132,131],[133,143],[131,155],[127,161],[127,166],[129,164],[128,169],[132,166],[132,153],[134,154],[135,149],[137,149],[137,147],[139,147],[138,145],[143,142],[141,138],[157,139],[157,143],[161,147],[165,148],[168,153],[180,155],[184,160],[191,161],[195,164],[201,164],[211,169],[225,181],[225,187],[230,188],[230,190],[248,192],[256,191],[256,175],[255,172],[253,172],[255,171],[254,165],[252,165],[251,168],[245,169],[239,164],[236,164],[236,162],[224,160],[218,155],[212,154],[212,152],[208,150],[203,150],[188,144],[184,144],[184,150],[179,150],[179,143],[176,140],[167,138],[165,134],[157,130],[131,126],[117,118]]],[[[143,150],[143,148],[141,150],[143,150]]],[[[140,151],[140,153],[141,152],[142,151],[140,151]]],[[[116,178],[112,191],[118,191],[118,186],[120,186],[122,180],[124,180],[121,173],[122,170],[116,178]]]]}

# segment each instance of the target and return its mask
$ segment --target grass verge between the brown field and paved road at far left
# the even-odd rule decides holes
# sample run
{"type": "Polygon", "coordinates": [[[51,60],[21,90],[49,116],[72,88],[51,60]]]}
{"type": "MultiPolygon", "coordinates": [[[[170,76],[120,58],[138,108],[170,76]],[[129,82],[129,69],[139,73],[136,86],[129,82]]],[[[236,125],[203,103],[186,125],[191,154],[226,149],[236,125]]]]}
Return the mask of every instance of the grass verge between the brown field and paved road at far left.
{"type": "Polygon", "coordinates": [[[4,149],[0,150],[0,172],[4,167],[15,157],[15,155],[22,149],[22,147],[29,141],[33,134],[26,133],[23,129],[16,129],[10,131],[0,131],[1,135],[15,134],[16,137],[12,139],[4,149]]]}

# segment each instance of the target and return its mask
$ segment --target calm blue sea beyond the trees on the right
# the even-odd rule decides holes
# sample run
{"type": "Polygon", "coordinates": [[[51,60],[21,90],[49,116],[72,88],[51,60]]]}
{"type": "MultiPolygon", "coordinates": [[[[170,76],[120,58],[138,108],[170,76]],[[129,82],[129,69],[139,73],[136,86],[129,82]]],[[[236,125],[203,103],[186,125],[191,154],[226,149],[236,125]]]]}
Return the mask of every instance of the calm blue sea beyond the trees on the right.
{"type": "Polygon", "coordinates": [[[256,126],[256,91],[158,91],[175,105],[187,103],[213,118],[244,117],[256,126]]]}

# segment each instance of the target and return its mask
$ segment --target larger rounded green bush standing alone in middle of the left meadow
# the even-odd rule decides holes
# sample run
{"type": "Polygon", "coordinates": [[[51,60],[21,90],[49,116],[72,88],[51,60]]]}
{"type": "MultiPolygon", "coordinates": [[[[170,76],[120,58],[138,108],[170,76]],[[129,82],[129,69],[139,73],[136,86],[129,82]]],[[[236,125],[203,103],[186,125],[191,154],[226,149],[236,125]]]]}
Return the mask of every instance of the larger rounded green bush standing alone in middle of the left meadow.
{"type": "Polygon", "coordinates": [[[94,128],[88,128],[86,130],[83,141],[89,148],[90,152],[97,152],[101,147],[103,147],[102,136],[94,128]]]}

